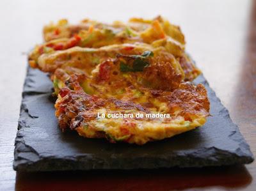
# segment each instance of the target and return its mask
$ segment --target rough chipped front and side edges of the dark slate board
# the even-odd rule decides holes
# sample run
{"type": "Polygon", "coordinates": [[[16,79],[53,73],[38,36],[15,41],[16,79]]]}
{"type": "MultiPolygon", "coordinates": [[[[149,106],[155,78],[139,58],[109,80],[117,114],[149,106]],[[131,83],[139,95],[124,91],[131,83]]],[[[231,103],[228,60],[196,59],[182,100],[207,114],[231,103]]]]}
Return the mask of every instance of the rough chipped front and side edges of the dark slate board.
{"type": "MultiPolygon", "coordinates": [[[[30,67],[28,66],[27,75],[24,82],[24,88],[26,86],[26,82],[29,79],[29,76],[28,76],[29,70],[30,70],[30,67]]],[[[204,79],[204,77],[202,77],[202,79],[204,79]]],[[[205,79],[202,80],[202,83],[208,84],[208,82],[205,79]]],[[[212,93],[215,94],[213,90],[212,90],[212,93]]],[[[26,100],[27,95],[33,95],[33,94],[47,94],[47,93],[24,91],[22,93],[22,103],[20,106],[20,118],[22,116],[29,116],[28,110],[26,109],[26,105],[24,105],[24,100],[26,100]]],[[[225,108],[225,112],[227,112],[227,116],[229,118],[229,113],[226,108],[225,108]]],[[[33,116],[29,116],[29,117],[33,118],[33,116]]],[[[26,126],[26,123],[19,119],[18,129],[20,128],[20,126],[26,126]]],[[[240,134],[237,126],[236,128],[237,130],[235,134],[240,134]]],[[[242,136],[242,139],[243,139],[243,136],[242,136]]],[[[175,157],[168,156],[164,158],[156,157],[156,158],[151,158],[150,160],[148,160],[148,158],[142,157],[142,158],[134,158],[134,159],[129,158],[129,159],[126,159],[126,162],[124,162],[125,160],[124,159],[122,164],[118,162],[118,158],[117,159],[113,158],[113,161],[111,162],[111,164],[104,164],[104,161],[100,161],[97,158],[95,159],[92,159],[91,157],[86,158],[86,156],[66,158],[65,160],[63,160],[63,158],[54,158],[54,157],[40,158],[38,156],[38,153],[36,153],[35,149],[26,145],[26,143],[24,142],[24,139],[20,135],[20,130],[18,130],[17,137],[15,139],[15,151],[14,151],[15,160],[13,162],[13,169],[15,169],[16,171],[67,171],[67,170],[92,170],[92,169],[158,169],[162,167],[164,168],[166,167],[204,167],[205,162],[207,163],[207,166],[249,164],[253,162],[254,158],[253,158],[252,152],[250,151],[250,146],[246,143],[244,139],[242,143],[243,144],[241,144],[241,149],[243,149],[245,152],[239,151],[237,153],[232,153],[232,155],[230,155],[229,153],[228,156],[225,156],[225,160],[222,160],[222,161],[218,158],[215,158],[214,156],[226,155],[225,152],[221,151],[218,148],[212,148],[211,152],[209,152],[209,149],[201,149],[199,151],[200,153],[204,153],[204,158],[198,157],[198,153],[196,154],[196,156],[193,156],[193,154],[191,154],[189,156],[189,160],[186,160],[186,158],[179,155],[176,155],[175,157]],[[32,155],[35,156],[36,160],[35,158],[34,160],[29,160],[29,158],[17,157],[17,154],[20,152],[31,153],[32,155]],[[209,155],[207,155],[207,152],[209,153],[209,155]],[[194,158],[195,160],[191,160],[191,158],[194,158]],[[207,158],[207,160],[205,160],[205,158],[207,158]],[[61,159],[61,163],[60,163],[60,159],[61,159]],[[232,164],[230,164],[229,159],[230,160],[232,159],[233,161],[232,164]],[[218,160],[217,163],[216,163],[216,160],[218,160]]]]}

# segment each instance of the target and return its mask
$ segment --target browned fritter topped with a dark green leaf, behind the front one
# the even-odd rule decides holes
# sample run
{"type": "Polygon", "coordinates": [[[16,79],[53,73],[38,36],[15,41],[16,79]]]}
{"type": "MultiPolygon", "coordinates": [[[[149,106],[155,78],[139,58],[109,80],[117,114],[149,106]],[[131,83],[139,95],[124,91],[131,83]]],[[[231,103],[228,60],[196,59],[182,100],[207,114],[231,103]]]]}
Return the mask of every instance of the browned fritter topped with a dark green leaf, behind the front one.
{"type": "Polygon", "coordinates": [[[102,61],[93,71],[89,67],[79,69],[62,66],[52,76],[56,93],[63,88],[72,74],[84,76],[82,86],[86,93],[110,93],[111,96],[118,92],[124,93],[124,88],[129,86],[134,89],[140,86],[173,91],[184,80],[179,62],[172,54],[161,49],[145,51],[142,54],[117,54],[115,59],[102,61]]]}

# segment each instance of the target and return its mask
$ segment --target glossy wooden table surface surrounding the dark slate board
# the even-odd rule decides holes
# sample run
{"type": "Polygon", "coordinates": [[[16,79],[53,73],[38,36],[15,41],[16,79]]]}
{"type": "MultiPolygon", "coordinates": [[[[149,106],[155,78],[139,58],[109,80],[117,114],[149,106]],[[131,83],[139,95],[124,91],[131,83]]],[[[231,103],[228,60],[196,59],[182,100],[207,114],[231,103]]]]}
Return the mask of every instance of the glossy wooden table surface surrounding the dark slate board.
{"type": "Polygon", "coordinates": [[[20,173],[12,169],[26,52],[50,20],[111,22],[163,15],[179,24],[187,51],[239,125],[256,156],[256,2],[0,2],[0,190],[256,190],[256,163],[202,169],[20,173]]]}

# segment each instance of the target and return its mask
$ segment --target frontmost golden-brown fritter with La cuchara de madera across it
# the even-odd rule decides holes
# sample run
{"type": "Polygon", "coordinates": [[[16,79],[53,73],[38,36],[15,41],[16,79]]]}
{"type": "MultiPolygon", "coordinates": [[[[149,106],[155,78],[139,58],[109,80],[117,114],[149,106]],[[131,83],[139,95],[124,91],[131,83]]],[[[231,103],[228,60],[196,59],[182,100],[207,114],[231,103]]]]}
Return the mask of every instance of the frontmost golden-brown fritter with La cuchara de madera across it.
{"type": "Polygon", "coordinates": [[[70,88],[62,88],[55,104],[56,116],[62,130],[70,128],[88,138],[106,137],[111,142],[124,141],[145,144],[186,132],[205,123],[209,115],[209,100],[204,86],[193,86],[188,82],[180,84],[173,92],[150,93],[159,104],[147,105],[140,102],[101,98],[88,95],[72,77],[70,88]],[[166,105],[170,118],[99,118],[98,113],[154,114],[159,105],[166,105]]]}

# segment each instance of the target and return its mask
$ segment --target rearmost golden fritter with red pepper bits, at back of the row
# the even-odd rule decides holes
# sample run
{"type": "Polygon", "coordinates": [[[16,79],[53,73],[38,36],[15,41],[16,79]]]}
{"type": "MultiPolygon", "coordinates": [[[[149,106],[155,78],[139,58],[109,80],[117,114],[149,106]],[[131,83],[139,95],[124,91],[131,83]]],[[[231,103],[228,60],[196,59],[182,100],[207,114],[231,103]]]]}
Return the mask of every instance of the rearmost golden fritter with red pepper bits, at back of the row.
{"type": "Polygon", "coordinates": [[[132,18],[127,24],[103,24],[85,19],[77,26],[68,24],[67,20],[60,20],[58,24],[45,26],[44,37],[47,42],[36,45],[29,54],[29,64],[33,68],[40,68],[38,57],[42,54],[51,57],[54,52],[76,46],[99,48],[124,43],[147,43],[152,46],[150,49],[163,47],[178,61],[182,61],[187,80],[193,80],[200,74],[193,62],[186,57],[184,35],[179,27],[162,17],[152,20],[132,18]]]}

